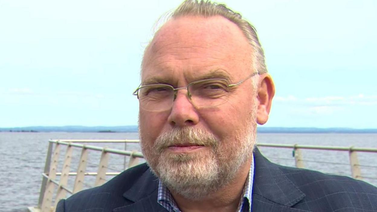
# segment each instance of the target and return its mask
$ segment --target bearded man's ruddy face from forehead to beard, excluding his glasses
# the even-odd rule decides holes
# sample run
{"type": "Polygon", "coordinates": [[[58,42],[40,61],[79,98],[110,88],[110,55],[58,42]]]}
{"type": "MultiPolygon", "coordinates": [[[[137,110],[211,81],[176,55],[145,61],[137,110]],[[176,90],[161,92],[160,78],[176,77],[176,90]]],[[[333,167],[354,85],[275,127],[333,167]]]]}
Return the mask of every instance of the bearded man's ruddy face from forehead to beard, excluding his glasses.
{"type": "MultiPolygon", "coordinates": [[[[162,26],[147,48],[142,83],[178,88],[213,77],[237,83],[254,72],[251,52],[241,30],[223,17],[180,17],[162,26]]],[[[183,89],[167,111],[140,108],[144,156],[170,190],[199,198],[229,183],[240,167],[250,167],[257,101],[251,80],[216,107],[196,107],[183,89]]]]}

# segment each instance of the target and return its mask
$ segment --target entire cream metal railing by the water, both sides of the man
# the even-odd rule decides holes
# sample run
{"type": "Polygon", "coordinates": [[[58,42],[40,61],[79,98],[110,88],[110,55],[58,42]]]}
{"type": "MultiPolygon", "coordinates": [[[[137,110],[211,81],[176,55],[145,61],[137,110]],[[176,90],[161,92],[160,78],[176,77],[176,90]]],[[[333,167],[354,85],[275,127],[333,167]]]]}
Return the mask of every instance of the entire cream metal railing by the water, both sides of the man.
{"type": "MultiPolygon", "coordinates": [[[[135,166],[139,163],[139,158],[143,158],[143,154],[137,151],[127,151],[127,143],[138,143],[139,140],[49,140],[48,153],[46,163],[44,166],[44,173],[42,174],[42,184],[40,189],[40,197],[37,207],[29,207],[30,211],[50,212],[54,211],[58,200],[66,198],[67,192],[75,194],[83,189],[84,176],[95,176],[94,186],[100,186],[106,182],[107,175],[117,175],[120,172],[107,172],[110,169],[108,166],[109,155],[123,155],[124,163],[123,169],[135,166]],[[107,147],[91,146],[80,143],[124,143],[124,150],[112,149],[107,147]],[[55,145],[55,147],[54,147],[55,145]],[[63,165],[61,172],[57,172],[58,161],[60,157],[61,146],[67,146],[66,154],[64,155],[63,165]],[[81,148],[80,159],[77,162],[78,167],[76,172],[70,172],[70,164],[72,160],[73,148],[81,148]],[[101,152],[100,161],[97,165],[97,172],[86,172],[89,151],[101,152]],[[129,162],[126,164],[126,157],[129,157],[129,162]],[[57,176],[60,176],[57,181],[57,176]],[[75,181],[72,185],[68,186],[69,176],[75,176],[75,181]],[[54,192],[56,190],[56,192],[54,192]],[[54,196],[55,194],[55,196],[54,196]],[[54,200],[55,197],[55,201],[54,200]],[[53,204],[54,203],[54,204],[53,204]]],[[[359,148],[359,147],[337,147],[337,146],[312,146],[312,145],[299,145],[299,144],[272,144],[272,143],[259,143],[258,147],[275,147],[293,149],[294,163],[296,167],[303,168],[305,161],[315,163],[334,163],[330,161],[310,161],[303,160],[302,149],[310,150],[325,150],[325,151],[346,151],[349,154],[349,166],[351,168],[351,175],[353,178],[362,179],[370,178],[377,180],[375,177],[363,177],[360,167],[371,167],[377,170],[376,164],[361,165],[357,157],[357,152],[372,152],[377,153],[377,148],[359,148]]],[[[287,159],[289,158],[280,158],[287,159]]],[[[340,164],[340,163],[336,163],[340,164]]],[[[344,163],[343,163],[344,164],[344,163]]],[[[376,172],[377,173],[377,172],[376,172]]]]}

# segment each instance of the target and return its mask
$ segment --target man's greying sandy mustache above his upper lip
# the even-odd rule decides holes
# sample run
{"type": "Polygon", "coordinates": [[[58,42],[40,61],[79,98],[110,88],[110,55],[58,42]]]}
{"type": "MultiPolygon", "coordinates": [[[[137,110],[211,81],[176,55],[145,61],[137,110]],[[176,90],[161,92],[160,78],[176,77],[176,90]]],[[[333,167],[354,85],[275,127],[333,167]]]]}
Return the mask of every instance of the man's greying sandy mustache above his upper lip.
{"type": "Polygon", "coordinates": [[[219,139],[215,135],[202,129],[174,128],[159,135],[153,144],[153,149],[161,153],[167,147],[179,144],[211,146],[216,149],[219,142],[219,139]]]}

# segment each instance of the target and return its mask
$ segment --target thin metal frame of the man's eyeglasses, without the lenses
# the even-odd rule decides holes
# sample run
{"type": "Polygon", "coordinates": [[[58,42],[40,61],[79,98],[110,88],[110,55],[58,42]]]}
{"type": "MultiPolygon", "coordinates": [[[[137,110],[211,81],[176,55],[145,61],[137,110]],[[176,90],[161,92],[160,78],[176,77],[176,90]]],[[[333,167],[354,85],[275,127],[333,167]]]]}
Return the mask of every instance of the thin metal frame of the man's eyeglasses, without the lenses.
{"type": "MultiPolygon", "coordinates": [[[[254,77],[255,75],[259,74],[259,72],[254,72],[253,74],[249,75],[248,77],[246,77],[245,79],[239,81],[238,83],[234,83],[234,84],[228,84],[228,88],[232,88],[234,86],[238,86],[240,85],[241,83],[243,83],[244,81],[248,80],[249,78],[251,77],[254,77]]],[[[139,93],[138,91],[141,89],[141,88],[145,88],[145,87],[148,87],[148,86],[152,86],[152,85],[164,85],[164,86],[168,86],[170,88],[173,89],[173,101],[175,101],[176,97],[177,97],[177,91],[178,90],[182,90],[182,89],[186,89],[187,91],[187,95],[189,96],[189,98],[191,99],[191,93],[189,91],[189,87],[190,85],[192,84],[196,84],[196,83],[201,83],[201,82],[205,82],[205,81],[210,81],[210,80],[224,80],[226,81],[227,83],[229,83],[227,80],[225,79],[221,79],[221,78],[214,78],[214,79],[205,79],[205,80],[198,80],[198,81],[193,81],[191,83],[189,83],[186,87],[181,87],[181,88],[174,88],[173,86],[171,86],[170,84],[147,84],[147,85],[143,85],[141,86],[141,84],[139,85],[139,87],[132,93],[132,95],[135,95],[137,96],[137,98],[139,99],[139,93]]]]}

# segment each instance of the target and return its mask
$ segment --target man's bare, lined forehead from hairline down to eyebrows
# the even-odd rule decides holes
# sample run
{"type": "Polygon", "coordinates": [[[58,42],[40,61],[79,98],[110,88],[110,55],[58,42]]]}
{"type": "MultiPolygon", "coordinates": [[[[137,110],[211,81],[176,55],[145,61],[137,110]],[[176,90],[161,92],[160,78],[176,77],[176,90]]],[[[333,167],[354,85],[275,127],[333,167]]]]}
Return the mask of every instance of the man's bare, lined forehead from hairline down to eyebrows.
{"type": "Polygon", "coordinates": [[[142,80],[221,69],[230,75],[251,67],[251,46],[236,24],[221,16],[178,17],[156,33],[143,58],[142,80]]]}

